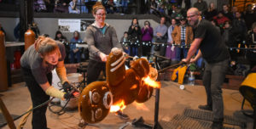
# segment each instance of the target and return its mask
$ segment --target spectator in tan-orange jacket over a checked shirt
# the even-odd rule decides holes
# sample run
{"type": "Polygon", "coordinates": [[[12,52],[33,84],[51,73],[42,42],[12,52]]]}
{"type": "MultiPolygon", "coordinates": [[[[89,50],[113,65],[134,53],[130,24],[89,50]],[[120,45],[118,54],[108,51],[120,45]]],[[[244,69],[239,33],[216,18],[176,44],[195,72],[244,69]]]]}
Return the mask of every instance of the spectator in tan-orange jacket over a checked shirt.
{"type": "Polygon", "coordinates": [[[188,48],[193,42],[193,31],[192,27],[187,25],[187,20],[183,17],[180,20],[180,25],[175,26],[172,31],[173,42],[178,45],[176,59],[180,61],[181,59],[185,59],[188,54],[188,48]],[[183,52],[183,57],[181,56],[183,52]]]}

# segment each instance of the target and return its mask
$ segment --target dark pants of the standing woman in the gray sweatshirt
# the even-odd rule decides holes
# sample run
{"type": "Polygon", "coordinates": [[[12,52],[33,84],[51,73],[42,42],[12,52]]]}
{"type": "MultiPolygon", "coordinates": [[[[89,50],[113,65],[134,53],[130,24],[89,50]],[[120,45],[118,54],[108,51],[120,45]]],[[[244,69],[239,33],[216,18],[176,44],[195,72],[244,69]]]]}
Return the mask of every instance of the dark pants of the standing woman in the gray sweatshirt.
{"type": "Polygon", "coordinates": [[[87,68],[87,85],[97,81],[102,70],[104,75],[106,75],[106,63],[90,59],[87,68]]]}

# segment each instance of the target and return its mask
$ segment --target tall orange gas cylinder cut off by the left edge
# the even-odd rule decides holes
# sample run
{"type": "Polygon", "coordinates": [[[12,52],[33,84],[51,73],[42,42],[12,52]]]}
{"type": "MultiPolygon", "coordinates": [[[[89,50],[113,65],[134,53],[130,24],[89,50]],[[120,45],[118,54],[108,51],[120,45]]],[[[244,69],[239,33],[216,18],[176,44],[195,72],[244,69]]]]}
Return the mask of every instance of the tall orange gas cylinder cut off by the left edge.
{"type": "Polygon", "coordinates": [[[8,90],[7,62],[4,42],[4,33],[3,31],[0,31],[0,92],[8,90]]]}

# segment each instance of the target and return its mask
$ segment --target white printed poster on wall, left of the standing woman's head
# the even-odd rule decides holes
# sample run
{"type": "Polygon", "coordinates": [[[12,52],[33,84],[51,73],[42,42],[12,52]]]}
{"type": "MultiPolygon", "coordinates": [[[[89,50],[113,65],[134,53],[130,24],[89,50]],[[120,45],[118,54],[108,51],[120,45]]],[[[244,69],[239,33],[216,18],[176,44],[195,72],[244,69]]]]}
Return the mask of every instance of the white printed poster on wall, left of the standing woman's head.
{"type": "Polygon", "coordinates": [[[80,31],[80,20],[58,20],[58,24],[59,31],[62,32],[80,31]]]}

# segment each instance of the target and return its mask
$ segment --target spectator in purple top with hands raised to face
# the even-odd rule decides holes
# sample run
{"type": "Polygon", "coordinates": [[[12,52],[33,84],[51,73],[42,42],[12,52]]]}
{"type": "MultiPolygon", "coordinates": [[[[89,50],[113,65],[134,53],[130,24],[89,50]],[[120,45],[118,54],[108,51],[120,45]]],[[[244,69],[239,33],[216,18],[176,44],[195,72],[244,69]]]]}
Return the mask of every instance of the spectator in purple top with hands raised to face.
{"type": "Polygon", "coordinates": [[[143,52],[143,56],[147,56],[150,53],[150,48],[151,46],[149,46],[148,42],[152,41],[153,38],[153,28],[150,25],[150,22],[148,20],[146,20],[144,22],[144,27],[142,29],[142,52],[143,52]]]}

